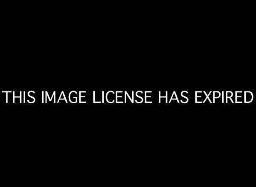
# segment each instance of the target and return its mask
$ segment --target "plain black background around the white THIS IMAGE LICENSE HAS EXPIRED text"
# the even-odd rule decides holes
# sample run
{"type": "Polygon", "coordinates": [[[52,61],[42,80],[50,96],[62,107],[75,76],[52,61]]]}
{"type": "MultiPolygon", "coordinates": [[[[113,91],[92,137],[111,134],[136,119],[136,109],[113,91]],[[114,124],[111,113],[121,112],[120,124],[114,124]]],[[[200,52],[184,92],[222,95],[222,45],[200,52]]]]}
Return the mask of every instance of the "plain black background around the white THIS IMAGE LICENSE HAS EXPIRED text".
{"type": "Polygon", "coordinates": [[[36,7],[3,13],[1,91],[151,90],[154,104],[5,105],[1,96],[5,176],[120,184],[250,178],[255,101],[196,105],[193,95],[255,95],[247,7],[36,7]],[[188,104],[157,104],[158,91],[183,90],[188,104]]]}

